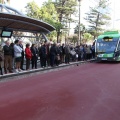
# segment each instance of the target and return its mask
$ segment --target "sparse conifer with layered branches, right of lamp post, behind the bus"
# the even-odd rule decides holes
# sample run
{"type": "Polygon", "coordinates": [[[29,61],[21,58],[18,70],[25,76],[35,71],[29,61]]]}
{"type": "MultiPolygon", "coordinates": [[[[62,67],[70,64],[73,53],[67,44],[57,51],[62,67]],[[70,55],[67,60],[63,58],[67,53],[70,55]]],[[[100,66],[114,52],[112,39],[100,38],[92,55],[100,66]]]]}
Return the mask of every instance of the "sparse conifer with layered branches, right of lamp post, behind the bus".
{"type": "Polygon", "coordinates": [[[109,24],[109,0],[95,0],[96,6],[90,7],[90,12],[86,13],[85,20],[89,23],[89,31],[93,34],[94,38],[100,31],[104,30],[104,26],[109,24]]]}

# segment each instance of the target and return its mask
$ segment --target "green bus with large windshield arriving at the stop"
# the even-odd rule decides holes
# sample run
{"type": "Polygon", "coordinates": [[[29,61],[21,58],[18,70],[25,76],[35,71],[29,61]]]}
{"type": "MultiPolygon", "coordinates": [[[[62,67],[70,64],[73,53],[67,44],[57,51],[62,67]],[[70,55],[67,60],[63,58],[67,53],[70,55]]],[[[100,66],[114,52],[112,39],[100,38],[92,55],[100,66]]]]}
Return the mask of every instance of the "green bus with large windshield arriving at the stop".
{"type": "Polygon", "coordinates": [[[104,32],[95,42],[97,61],[120,61],[120,33],[104,32]]]}

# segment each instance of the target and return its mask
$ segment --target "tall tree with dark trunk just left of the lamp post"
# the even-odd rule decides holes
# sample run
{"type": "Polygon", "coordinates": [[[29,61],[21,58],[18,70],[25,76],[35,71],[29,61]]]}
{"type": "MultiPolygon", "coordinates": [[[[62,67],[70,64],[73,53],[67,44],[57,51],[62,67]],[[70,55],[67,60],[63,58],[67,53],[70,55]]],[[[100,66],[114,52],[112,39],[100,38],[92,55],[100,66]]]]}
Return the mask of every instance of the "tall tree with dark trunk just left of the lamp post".
{"type": "MultiPolygon", "coordinates": [[[[73,21],[71,19],[71,14],[76,12],[76,8],[75,8],[75,6],[77,5],[76,0],[56,0],[53,3],[56,6],[59,23],[66,26],[67,23],[70,23],[70,21],[73,21]]],[[[61,29],[63,29],[63,28],[59,28],[57,31],[57,41],[59,40],[61,29]]],[[[68,29],[68,31],[69,31],[69,29],[68,29]]]]}

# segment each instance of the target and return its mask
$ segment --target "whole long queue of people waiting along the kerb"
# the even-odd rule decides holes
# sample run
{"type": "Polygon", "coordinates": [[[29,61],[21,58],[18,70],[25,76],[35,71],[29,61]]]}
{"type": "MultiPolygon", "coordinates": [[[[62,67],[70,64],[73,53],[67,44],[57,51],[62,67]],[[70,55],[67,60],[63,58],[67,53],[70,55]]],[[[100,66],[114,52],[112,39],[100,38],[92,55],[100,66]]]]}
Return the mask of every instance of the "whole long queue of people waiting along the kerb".
{"type": "Polygon", "coordinates": [[[38,58],[40,58],[40,66],[44,68],[46,66],[58,66],[61,63],[70,64],[72,61],[87,60],[94,57],[94,45],[73,47],[69,44],[60,45],[44,42],[39,46],[37,44],[32,44],[31,46],[26,44],[24,48],[22,40],[15,40],[14,43],[10,43],[7,40],[3,47],[0,46],[0,74],[19,73],[23,70],[37,69],[38,58]]]}

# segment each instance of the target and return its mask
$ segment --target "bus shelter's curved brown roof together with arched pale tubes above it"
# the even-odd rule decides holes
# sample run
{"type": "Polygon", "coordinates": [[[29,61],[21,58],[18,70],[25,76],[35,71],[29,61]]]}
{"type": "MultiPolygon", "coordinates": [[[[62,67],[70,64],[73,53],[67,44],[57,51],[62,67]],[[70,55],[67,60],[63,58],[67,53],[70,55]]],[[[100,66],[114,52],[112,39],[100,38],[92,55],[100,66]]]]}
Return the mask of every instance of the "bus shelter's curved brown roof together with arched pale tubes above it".
{"type": "Polygon", "coordinates": [[[55,30],[50,24],[30,18],[23,13],[0,4],[0,30],[12,29],[13,31],[48,34],[55,30]]]}

